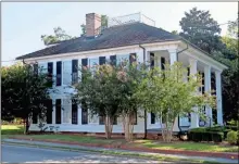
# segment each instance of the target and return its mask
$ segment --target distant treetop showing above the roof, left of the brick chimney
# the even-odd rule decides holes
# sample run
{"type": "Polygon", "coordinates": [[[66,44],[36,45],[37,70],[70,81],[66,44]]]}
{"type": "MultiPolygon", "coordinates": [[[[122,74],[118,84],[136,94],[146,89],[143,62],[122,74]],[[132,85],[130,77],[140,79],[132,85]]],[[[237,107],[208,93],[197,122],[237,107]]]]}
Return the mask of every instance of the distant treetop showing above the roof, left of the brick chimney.
{"type": "Polygon", "coordinates": [[[61,27],[55,27],[53,28],[53,30],[54,30],[54,35],[41,35],[41,40],[46,46],[58,41],[76,38],[65,34],[65,30],[63,30],[61,27]]]}

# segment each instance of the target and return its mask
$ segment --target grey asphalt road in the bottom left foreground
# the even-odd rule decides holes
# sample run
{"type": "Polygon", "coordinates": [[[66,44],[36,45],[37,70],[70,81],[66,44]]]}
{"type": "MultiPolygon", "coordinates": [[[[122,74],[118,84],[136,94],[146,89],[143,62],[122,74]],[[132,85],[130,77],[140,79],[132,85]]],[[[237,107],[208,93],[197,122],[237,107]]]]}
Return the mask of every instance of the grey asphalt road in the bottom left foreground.
{"type": "Polygon", "coordinates": [[[1,150],[2,163],[159,163],[159,161],[137,157],[111,156],[88,152],[70,152],[9,144],[2,144],[1,150]]]}

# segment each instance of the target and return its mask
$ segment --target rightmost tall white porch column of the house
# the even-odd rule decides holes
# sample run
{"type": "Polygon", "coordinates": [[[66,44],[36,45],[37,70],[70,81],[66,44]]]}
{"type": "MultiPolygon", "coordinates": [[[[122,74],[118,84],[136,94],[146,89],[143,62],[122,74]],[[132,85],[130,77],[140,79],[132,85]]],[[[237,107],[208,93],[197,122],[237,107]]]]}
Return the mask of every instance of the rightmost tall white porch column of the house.
{"type": "Polygon", "coordinates": [[[222,79],[221,71],[216,71],[216,111],[217,111],[217,124],[223,125],[223,108],[222,108],[222,79]]]}

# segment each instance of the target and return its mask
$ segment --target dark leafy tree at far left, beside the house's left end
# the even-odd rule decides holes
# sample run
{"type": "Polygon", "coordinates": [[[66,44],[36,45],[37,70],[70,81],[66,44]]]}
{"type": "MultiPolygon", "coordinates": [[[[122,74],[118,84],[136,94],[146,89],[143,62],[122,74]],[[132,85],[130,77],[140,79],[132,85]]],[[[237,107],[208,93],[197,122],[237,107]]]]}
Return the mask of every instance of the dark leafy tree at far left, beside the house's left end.
{"type": "Polygon", "coordinates": [[[33,65],[17,63],[1,68],[2,87],[2,116],[21,117],[25,119],[28,131],[28,119],[39,116],[40,121],[46,118],[45,102],[49,99],[49,89],[52,80],[47,74],[36,74],[33,65]]]}

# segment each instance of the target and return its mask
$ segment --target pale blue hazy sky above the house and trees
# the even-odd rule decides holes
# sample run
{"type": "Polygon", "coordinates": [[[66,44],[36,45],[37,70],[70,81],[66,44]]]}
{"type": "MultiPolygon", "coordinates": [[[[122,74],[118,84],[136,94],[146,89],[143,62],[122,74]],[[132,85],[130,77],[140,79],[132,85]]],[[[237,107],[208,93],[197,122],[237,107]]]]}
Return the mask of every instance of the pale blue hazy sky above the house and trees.
{"type": "MultiPolygon", "coordinates": [[[[154,20],[156,27],[180,31],[179,21],[193,7],[209,10],[218,24],[237,18],[237,2],[2,2],[2,65],[13,63],[4,61],[45,48],[40,36],[53,34],[54,27],[80,36],[87,13],[114,17],[141,12],[154,20]]],[[[225,35],[227,25],[221,28],[225,35]]]]}

